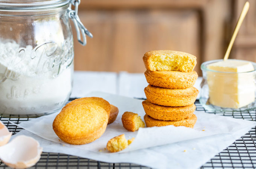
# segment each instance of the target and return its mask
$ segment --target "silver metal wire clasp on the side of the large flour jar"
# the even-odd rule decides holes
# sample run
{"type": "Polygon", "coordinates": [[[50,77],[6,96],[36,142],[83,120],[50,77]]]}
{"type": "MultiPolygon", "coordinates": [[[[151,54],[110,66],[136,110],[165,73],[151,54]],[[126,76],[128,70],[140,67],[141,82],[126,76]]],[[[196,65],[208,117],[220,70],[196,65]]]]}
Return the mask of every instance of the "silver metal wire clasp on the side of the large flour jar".
{"type": "Polygon", "coordinates": [[[76,28],[76,35],[78,42],[83,46],[86,45],[86,35],[90,38],[93,35],[85,28],[84,24],[82,24],[80,18],[78,17],[78,5],[81,3],[81,0],[70,0],[69,8],[67,9],[69,18],[73,21],[76,28]],[[72,10],[72,5],[75,6],[75,10],[72,10]],[[82,33],[83,41],[81,40],[80,30],[82,33]]]}

